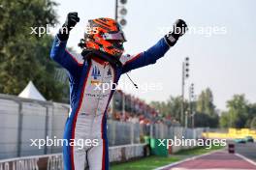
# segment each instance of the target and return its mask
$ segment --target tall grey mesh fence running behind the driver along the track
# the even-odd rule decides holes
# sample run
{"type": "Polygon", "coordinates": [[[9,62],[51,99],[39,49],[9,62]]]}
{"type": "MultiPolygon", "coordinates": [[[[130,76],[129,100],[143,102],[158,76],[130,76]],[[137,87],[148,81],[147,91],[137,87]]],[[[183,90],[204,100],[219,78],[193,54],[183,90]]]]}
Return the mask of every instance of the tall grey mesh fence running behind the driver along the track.
{"type": "MultiPolygon", "coordinates": [[[[31,147],[31,139],[62,139],[68,114],[68,104],[0,94],[0,158],[61,153],[61,146],[31,147]]],[[[110,146],[139,144],[144,142],[145,135],[162,139],[199,138],[203,130],[108,121],[110,146]]]]}

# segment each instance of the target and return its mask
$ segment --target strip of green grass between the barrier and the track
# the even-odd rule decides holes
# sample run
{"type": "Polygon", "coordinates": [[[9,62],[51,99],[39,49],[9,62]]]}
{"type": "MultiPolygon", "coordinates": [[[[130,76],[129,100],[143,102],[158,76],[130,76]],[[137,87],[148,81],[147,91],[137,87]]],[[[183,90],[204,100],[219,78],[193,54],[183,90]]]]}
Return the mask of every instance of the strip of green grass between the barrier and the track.
{"type": "Polygon", "coordinates": [[[222,149],[223,147],[212,147],[211,149],[195,148],[191,150],[184,150],[172,156],[148,156],[131,162],[112,164],[112,170],[150,170],[160,166],[164,166],[178,160],[187,158],[189,156],[199,156],[206,154],[213,150],[222,149]]]}

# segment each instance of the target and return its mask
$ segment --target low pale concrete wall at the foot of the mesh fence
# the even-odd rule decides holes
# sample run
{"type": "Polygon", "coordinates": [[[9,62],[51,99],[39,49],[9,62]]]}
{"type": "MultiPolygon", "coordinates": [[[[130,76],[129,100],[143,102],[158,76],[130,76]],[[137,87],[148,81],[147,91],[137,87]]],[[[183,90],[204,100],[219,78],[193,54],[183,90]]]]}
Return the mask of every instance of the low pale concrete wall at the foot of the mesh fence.
{"type": "MultiPolygon", "coordinates": [[[[123,145],[110,148],[110,161],[127,161],[131,158],[144,156],[144,144],[123,145]]],[[[46,156],[24,156],[0,160],[1,170],[62,170],[63,159],[61,154],[46,156]]]]}

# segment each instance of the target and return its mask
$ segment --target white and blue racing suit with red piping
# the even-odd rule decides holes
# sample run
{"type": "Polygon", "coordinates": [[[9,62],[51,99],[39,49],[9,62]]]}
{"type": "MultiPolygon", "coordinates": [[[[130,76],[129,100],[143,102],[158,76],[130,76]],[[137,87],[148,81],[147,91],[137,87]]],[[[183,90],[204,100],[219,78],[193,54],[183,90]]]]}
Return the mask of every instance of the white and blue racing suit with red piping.
{"type": "Polygon", "coordinates": [[[112,99],[113,90],[96,89],[98,83],[117,83],[121,74],[150,64],[163,57],[170,48],[166,39],[137,55],[122,55],[122,67],[113,67],[97,57],[83,60],[81,55],[73,55],[66,49],[67,42],[56,36],[51,48],[50,58],[69,73],[71,112],[66,122],[64,139],[97,140],[97,145],[64,145],[64,169],[92,170],[109,169],[109,149],[107,138],[106,110],[112,99]]]}

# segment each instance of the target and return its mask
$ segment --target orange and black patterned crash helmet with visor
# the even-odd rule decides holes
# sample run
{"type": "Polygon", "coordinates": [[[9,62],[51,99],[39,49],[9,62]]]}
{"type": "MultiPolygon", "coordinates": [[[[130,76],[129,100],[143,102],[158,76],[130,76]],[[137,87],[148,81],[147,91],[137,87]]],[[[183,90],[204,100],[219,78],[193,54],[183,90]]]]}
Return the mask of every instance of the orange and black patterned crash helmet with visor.
{"type": "Polygon", "coordinates": [[[88,21],[84,34],[86,49],[100,50],[119,59],[124,51],[126,42],[120,25],[112,18],[101,17],[88,21]]]}

